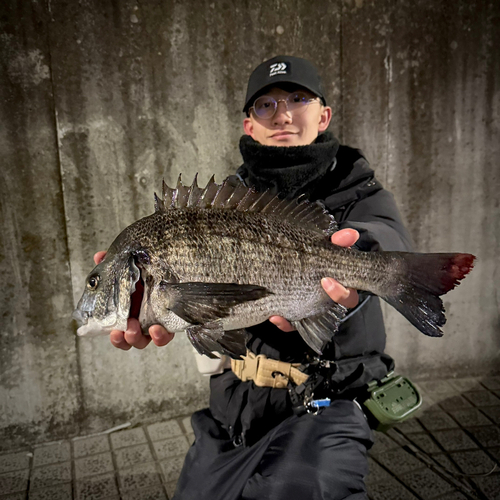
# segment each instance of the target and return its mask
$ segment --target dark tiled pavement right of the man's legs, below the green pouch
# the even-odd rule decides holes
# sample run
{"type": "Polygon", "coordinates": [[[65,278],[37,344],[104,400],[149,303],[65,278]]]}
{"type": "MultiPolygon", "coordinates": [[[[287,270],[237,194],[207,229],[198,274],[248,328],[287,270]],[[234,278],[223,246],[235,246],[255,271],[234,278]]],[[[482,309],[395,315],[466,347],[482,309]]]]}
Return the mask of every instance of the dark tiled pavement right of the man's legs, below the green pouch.
{"type": "MultiPolygon", "coordinates": [[[[417,417],[377,434],[367,479],[372,500],[500,499],[500,377],[417,384],[424,407],[417,417]],[[453,486],[401,447],[409,439],[467,489],[453,486]],[[490,475],[481,474],[496,469],[490,475]],[[465,477],[461,474],[476,474],[465,477]],[[472,496],[465,493],[469,491],[472,496]]],[[[417,449],[418,449],[417,448],[417,449]]],[[[453,478],[452,478],[453,479],[453,478]]]]}

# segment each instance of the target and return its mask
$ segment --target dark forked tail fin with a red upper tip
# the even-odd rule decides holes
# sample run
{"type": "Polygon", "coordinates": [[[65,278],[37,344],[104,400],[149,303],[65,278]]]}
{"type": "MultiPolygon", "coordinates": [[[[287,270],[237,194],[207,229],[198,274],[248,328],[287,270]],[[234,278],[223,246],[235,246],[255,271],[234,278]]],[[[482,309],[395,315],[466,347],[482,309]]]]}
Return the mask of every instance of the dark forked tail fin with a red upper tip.
{"type": "MultiPolygon", "coordinates": [[[[388,252],[389,253],[389,252],[388,252]]],[[[398,261],[392,293],[379,294],[412,325],[430,337],[441,337],[446,322],[440,295],[455,288],[472,269],[474,255],[464,253],[390,252],[398,261]]]]}

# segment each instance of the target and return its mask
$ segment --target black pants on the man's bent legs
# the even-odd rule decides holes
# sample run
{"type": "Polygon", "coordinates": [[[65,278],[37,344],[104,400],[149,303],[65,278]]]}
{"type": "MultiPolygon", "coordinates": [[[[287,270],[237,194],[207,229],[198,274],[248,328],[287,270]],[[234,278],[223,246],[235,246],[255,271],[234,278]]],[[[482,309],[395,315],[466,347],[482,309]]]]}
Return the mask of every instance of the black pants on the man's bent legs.
{"type": "Polygon", "coordinates": [[[292,416],[252,446],[234,447],[209,410],[192,418],[195,442],[175,500],[366,499],[373,436],[359,407],[333,401],[318,415],[292,416]]]}

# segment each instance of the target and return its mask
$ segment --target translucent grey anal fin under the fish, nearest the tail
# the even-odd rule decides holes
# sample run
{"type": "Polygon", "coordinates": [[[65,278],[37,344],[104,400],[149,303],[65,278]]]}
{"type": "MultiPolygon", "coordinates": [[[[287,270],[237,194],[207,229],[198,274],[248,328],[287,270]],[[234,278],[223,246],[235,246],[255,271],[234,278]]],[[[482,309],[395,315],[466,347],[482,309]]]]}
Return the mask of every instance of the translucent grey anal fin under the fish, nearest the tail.
{"type": "Polygon", "coordinates": [[[292,321],[292,325],[300,333],[304,342],[321,354],[325,344],[339,329],[339,324],[346,312],[347,309],[344,306],[332,301],[332,306],[326,312],[292,321]]]}

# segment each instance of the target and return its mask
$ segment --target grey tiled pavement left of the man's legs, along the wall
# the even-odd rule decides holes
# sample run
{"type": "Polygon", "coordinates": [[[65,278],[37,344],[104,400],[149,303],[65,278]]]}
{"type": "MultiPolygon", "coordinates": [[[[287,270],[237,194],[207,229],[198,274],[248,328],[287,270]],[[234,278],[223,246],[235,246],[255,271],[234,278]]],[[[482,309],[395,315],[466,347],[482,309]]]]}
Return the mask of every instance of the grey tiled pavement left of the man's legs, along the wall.
{"type": "Polygon", "coordinates": [[[190,418],[0,455],[1,500],[167,500],[193,441],[190,418]]]}

